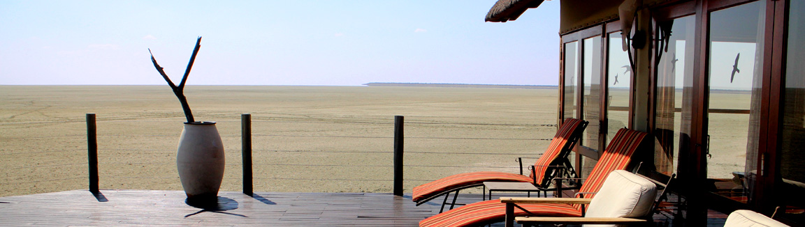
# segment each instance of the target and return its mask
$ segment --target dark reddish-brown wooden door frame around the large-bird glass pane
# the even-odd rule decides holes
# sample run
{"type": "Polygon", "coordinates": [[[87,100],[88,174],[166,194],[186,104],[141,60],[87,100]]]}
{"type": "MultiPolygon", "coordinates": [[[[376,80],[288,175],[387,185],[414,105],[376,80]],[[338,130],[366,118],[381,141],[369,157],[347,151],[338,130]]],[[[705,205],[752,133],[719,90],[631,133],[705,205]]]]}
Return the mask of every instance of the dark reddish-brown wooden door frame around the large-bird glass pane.
{"type": "MultiPolygon", "coordinates": [[[[787,2],[774,0],[766,1],[766,21],[764,34],[762,87],[761,87],[761,112],[760,126],[758,132],[758,170],[760,176],[755,181],[753,190],[753,201],[743,204],[737,201],[708,193],[701,189],[706,185],[707,180],[707,130],[708,130],[708,72],[709,72],[709,17],[710,13],[733,6],[738,6],[753,0],[697,0],[695,2],[683,2],[675,6],[663,6],[662,9],[653,10],[654,17],[660,19],[679,18],[687,15],[696,17],[695,53],[696,65],[694,65],[693,81],[693,105],[691,106],[691,133],[690,143],[679,150],[679,184],[682,184],[683,194],[691,201],[691,208],[700,206],[701,208],[716,209],[720,212],[729,213],[735,209],[754,209],[762,213],[774,211],[775,197],[780,195],[765,195],[766,191],[774,192],[775,176],[779,175],[780,157],[778,149],[780,142],[778,134],[782,132],[782,95],[784,89],[783,67],[785,64],[785,43],[787,29],[787,2]],[[782,25],[782,26],[780,26],[782,25]],[[771,133],[770,133],[771,132],[771,133]],[[684,151],[684,152],[683,152],[684,151]],[[685,191],[687,190],[687,191],[685,191]]],[[[658,61],[658,59],[654,59],[658,61]]],[[[656,117],[656,69],[652,73],[652,107],[650,110],[651,130],[655,129],[656,117]]],[[[706,218],[706,213],[699,211],[691,212],[692,220],[700,221],[706,218]]]]}

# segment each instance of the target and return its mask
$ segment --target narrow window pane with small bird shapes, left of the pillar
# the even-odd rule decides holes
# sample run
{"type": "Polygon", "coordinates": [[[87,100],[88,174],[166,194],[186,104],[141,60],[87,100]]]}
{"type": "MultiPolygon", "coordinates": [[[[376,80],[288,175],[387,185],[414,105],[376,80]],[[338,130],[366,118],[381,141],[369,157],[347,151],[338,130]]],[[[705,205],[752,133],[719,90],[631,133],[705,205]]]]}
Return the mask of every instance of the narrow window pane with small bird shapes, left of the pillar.
{"type": "Polygon", "coordinates": [[[609,34],[607,53],[606,144],[618,129],[629,127],[629,87],[632,84],[632,67],[629,53],[621,48],[621,32],[609,34]]]}

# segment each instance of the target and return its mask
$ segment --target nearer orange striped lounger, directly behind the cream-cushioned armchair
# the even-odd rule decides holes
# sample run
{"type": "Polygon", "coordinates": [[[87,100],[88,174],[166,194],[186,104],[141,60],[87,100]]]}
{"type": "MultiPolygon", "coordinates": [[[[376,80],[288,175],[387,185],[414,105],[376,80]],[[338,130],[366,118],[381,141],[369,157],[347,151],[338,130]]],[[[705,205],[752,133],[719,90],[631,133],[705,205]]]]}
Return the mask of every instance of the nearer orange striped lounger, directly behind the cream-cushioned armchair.
{"type": "MultiPolygon", "coordinates": [[[[646,132],[626,128],[618,130],[601,154],[596,166],[592,168],[587,180],[581,185],[579,193],[597,193],[609,172],[629,167],[632,155],[647,135],[646,132]]],[[[519,207],[528,210],[529,213],[515,209],[514,216],[582,217],[583,213],[582,205],[526,204],[519,207]]],[[[419,221],[419,226],[484,225],[503,221],[504,217],[506,217],[506,205],[501,201],[481,201],[428,217],[419,221]]]]}

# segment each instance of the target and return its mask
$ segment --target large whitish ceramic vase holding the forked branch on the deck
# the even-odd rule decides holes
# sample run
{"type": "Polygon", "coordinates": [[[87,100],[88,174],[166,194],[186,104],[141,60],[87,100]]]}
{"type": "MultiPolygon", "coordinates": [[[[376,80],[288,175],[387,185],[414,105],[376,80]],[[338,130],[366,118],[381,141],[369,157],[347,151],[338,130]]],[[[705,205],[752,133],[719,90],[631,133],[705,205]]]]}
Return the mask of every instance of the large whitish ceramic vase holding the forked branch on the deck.
{"type": "Polygon", "coordinates": [[[224,164],[224,144],[215,122],[184,123],[176,168],[188,201],[217,200],[224,164]]]}

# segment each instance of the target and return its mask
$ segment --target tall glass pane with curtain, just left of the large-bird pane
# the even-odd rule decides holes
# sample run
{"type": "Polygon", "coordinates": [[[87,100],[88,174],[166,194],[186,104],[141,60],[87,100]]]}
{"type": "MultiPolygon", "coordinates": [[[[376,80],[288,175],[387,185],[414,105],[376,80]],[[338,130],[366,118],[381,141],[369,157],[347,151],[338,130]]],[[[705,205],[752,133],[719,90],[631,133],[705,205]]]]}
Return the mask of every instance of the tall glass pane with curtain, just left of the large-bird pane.
{"type": "Polygon", "coordinates": [[[695,18],[687,16],[676,18],[667,23],[671,25],[671,37],[667,47],[663,46],[662,57],[657,64],[657,101],[654,116],[654,136],[657,150],[654,152],[654,165],[658,172],[667,175],[676,172],[675,163],[679,159],[679,135],[689,133],[690,128],[682,130],[683,109],[690,112],[693,86],[693,40],[695,18]],[[687,87],[688,89],[684,89],[687,87]]]}

